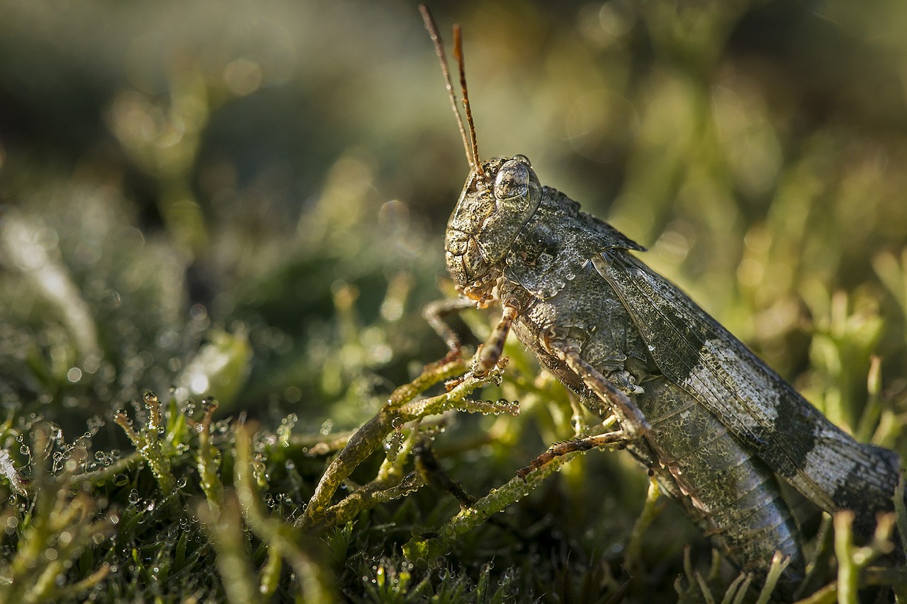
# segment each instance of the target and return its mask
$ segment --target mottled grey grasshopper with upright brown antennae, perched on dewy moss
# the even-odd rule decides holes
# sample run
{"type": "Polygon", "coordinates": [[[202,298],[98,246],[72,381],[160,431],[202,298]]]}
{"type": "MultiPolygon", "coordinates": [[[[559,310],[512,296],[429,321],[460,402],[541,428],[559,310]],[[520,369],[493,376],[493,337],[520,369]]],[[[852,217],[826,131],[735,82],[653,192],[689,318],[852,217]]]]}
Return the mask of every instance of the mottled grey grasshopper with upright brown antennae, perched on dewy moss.
{"type": "Polygon", "coordinates": [[[645,248],[542,186],[528,158],[480,161],[459,28],[453,50],[468,129],[434,20],[421,10],[471,167],[444,238],[462,297],[425,313],[450,355],[461,344],[444,314],[500,305],[474,374],[493,368],[515,332],[590,410],[618,417],[630,452],[736,567],[764,578],[776,551],[789,558],[779,586],[793,593],[805,559],[782,482],[821,510],[852,510],[854,531],[868,537],[876,515],[893,510],[899,456],[832,424],[639,260],[645,248]]]}

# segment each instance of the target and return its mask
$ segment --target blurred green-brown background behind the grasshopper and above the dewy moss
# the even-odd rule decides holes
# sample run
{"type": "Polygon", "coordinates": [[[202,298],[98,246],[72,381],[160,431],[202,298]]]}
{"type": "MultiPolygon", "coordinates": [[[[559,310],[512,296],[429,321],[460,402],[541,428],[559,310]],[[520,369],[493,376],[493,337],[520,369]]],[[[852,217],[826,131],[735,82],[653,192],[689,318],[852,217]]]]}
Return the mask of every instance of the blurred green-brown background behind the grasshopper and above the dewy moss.
{"type": "MultiPolygon", "coordinates": [[[[432,8],[463,25],[483,157],[529,156],[896,446],[907,5],[432,8]]],[[[467,170],[414,2],[0,2],[3,413],[98,446],[148,389],[360,424],[444,355],[420,311],[467,170]]]]}

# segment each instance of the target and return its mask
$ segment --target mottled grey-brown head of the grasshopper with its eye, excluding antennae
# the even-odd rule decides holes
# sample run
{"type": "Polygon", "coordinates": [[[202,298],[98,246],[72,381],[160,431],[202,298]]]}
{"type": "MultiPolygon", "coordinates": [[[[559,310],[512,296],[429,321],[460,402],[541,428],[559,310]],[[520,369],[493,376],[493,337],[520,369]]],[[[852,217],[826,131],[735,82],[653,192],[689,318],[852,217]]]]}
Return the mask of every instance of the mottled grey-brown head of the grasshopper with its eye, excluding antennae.
{"type": "Polygon", "coordinates": [[[463,293],[481,299],[501,274],[501,261],[541,202],[529,159],[485,161],[473,170],[444,237],[447,271],[463,293]]]}

